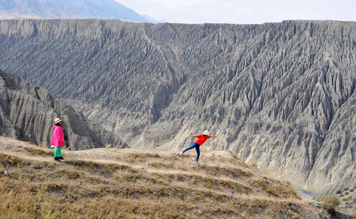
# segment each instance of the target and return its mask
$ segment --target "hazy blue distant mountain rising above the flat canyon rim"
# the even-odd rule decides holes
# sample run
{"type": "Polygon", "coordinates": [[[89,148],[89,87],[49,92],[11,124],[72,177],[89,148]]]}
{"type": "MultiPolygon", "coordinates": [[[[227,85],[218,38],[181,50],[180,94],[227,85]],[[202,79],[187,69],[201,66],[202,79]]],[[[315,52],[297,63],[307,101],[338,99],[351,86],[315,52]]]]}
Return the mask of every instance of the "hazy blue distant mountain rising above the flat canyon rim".
{"type": "Polygon", "coordinates": [[[115,0],[0,0],[0,18],[98,18],[150,22],[115,0]]]}

